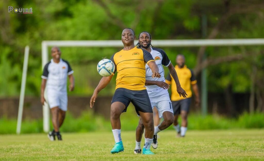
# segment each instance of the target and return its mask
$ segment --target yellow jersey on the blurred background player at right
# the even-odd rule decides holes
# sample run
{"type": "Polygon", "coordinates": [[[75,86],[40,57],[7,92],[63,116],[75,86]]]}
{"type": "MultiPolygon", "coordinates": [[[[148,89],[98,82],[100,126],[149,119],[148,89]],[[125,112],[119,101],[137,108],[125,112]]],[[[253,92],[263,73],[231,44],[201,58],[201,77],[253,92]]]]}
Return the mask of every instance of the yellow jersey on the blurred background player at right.
{"type": "MultiPolygon", "coordinates": [[[[196,84],[197,82],[194,73],[192,72],[192,70],[187,68],[186,65],[183,68],[179,68],[176,65],[175,70],[177,72],[181,87],[186,91],[188,95],[187,98],[192,97],[191,84],[196,84]]],[[[178,94],[176,83],[170,74],[166,78],[166,83],[171,84],[171,101],[185,99],[182,96],[180,97],[180,95],[178,94]]]]}

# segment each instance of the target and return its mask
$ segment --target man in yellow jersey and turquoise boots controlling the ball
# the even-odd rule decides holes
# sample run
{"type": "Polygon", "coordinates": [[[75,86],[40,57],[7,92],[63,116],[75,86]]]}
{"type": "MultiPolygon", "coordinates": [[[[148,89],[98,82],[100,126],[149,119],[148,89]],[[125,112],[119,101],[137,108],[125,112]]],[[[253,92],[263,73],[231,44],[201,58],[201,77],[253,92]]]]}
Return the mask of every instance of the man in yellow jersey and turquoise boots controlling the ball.
{"type": "MultiPolygon", "coordinates": [[[[135,32],[131,28],[125,28],[122,32],[122,43],[124,48],[112,55],[117,71],[116,91],[111,104],[111,125],[114,134],[115,146],[111,153],[124,151],[121,139],[120,115],[126,112],[129,103],[135,106],[138,115],[141,116],[145,126],[145,145],[143,154],[154,154],[150,151],[153,140],[154,124],[153,111],[150,104],[148,92],[145,87],[145,64],[147,63],[153,74],[152,77],[160,77],[159,68],[152,55],[142,48],[134,45],[135,32]]],[[[97,85],[90,100],[90,107],[95,103],[98,93],[106,87],[113,75],[103,77],[97,85]]]]}

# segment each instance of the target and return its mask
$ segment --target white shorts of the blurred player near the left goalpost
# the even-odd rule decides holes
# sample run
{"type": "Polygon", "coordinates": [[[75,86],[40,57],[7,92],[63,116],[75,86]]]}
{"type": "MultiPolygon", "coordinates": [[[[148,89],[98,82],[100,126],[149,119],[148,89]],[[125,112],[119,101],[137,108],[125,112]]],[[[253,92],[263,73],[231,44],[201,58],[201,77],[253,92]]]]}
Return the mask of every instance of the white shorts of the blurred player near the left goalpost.
{"type": "Polygon", "coordinates": [[[53,90],[47,90],[47,98],[50,109],[59,106],[59,109],[67,111],[67,92],[56,92],[53,90]]]}

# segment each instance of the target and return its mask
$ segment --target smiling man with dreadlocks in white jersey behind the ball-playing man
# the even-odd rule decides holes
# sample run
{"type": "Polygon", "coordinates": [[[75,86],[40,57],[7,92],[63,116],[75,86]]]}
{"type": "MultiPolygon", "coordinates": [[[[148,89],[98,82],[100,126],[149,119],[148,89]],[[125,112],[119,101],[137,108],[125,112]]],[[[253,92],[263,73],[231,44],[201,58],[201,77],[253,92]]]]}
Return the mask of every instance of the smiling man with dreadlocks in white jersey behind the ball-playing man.
{"type": "MultiPolygon", "coordinates": [[[[152,147],[156,149],[158,147],[158,142],[157,142],[157,133],[161,130],[164,130],[168,128],[172,123],[173,123],[173,109],[171,105],[171,100],[169,98],[169,93],[168,93],[168,88],[169,85],[165,82],[165,77],[164,77],[164,69],[163,66],[166,66],[169,68],[169,71],[171,75],[173,76],[173,79],[176,82],[177,85],[177,92],[179,95],[186,97],[187,94],[185,90],[182,89],[180,82],[178,80],[177,73],[175,71],[174,66],[172,65],[171,61],[169,60],[167,54],[159,48],[154,48],[151,45],[151,35],[150,33],[143,31],[139,35],[139,42],[138,46],[144,48],[148,52],[151,53],[152,57],[154,58],[156,64],[159,67],[159,74],[161,75],[160,78],[152,78],[152,71],[150,70],[149,66],[146,65],[146,88],[147,92],[149,95],[150,103],[152,108],[156,106],[158,110],[158,115],[159,118],[163,116],[164,120],[162,121],[161,124],[159,124],[157,127],[154,129],[154,136],[153,136],[153,142],[152,142],[152,147]],[[150,47],[150,45],[152,47],[150,47]]],[[[142,120],[140,118],[139,120],[139,125],[136,128],[136,147],[134,150],[134,153],[141,153],[141,139],[142,135],[144,132],[144,125],[142,123],[142,120]]]]}

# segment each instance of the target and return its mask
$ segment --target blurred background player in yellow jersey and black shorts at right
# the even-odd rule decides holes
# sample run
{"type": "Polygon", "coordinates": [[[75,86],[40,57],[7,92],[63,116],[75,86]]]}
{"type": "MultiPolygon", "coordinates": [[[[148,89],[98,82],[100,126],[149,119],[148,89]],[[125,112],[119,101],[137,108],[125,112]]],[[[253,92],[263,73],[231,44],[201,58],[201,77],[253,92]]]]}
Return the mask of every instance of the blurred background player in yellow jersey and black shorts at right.
{"type": "Polygon", "coordinates": [[[185,65],[185,57],[183,55],[177,55],[176,63],[177,65],[175,66],[175,70],[178,74],[181,87],[185,89],[187,93],[187,98],[180,97],[179,94],[176,92],[176,84],[175,81],[172,79],[171,75],[167,76],[166,82],[168,84],[171,84],[171,101],[174,113],[173,127],[177,131],[179,137],[184,137],[187,131],[187,115],[190,109],[192,97],[191,86],[195,94],[196,105],[200,104],[200,97],[197,86],[197,80],[195,79],[192,70],[187,68],[187,66],[185,65]],[[177,121],[179,114],[181,114],[182,118],[181,127],[177,121]]]}

